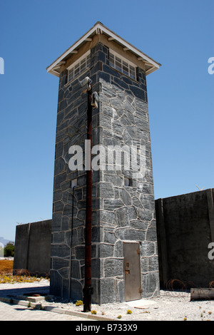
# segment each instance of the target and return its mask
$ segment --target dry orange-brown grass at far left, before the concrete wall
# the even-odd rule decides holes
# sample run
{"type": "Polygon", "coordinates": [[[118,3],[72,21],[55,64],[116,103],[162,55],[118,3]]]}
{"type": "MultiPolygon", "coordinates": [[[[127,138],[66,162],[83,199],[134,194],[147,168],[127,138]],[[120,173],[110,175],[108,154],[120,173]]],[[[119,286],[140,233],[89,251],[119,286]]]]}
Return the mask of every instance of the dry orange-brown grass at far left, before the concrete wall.
{"type": "Polygon", "coordinates": [[[14,271],[14,261],[0,259],[0,284],[14,284],[19,282],[39,282],[41,277],[32,277],[25,269],[14,271]],[[16,273],[16,274],[13,274],[16,273]]]}

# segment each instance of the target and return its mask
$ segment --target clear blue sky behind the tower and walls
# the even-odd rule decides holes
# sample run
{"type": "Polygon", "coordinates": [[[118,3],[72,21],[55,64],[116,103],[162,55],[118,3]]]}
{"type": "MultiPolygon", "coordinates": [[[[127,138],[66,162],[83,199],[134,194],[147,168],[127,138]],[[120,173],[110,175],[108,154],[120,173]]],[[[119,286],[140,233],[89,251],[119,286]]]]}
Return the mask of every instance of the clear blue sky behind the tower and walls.
{"type": "Polygon", "coordinates": [[[0,236],[51,218],[58,78],[101,21],[162,64],[147,77],[155,198],[213,187],[213,0],[0,1],[0,236]]]}

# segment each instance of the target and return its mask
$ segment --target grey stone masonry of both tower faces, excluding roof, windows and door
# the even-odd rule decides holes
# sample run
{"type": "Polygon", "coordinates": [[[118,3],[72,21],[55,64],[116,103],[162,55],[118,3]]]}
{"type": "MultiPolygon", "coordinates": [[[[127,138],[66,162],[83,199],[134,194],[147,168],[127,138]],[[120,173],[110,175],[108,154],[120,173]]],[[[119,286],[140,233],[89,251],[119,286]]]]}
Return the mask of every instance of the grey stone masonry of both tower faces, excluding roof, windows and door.
{"type": "MultiPolygon", "coordinates": [[[[66,83],[61,73],[58,92],[54,204],[51,244],[51,293],[82,299],[85,252],[86,172],[71,171],[71,145],[86,140],[87,95],[78,80],[89,76],[100,97],[93,110],[93,145],[145,145],[143,178],[135,170],[115,166],[93,170],[92,301],[103,304],[124,301],[123,241],[141,243],[142,297],[158,294],[153,171],[148,121],[146,76],[138,68],[137,79],[109,66],[108,48],[98,43],[91,49],[91,68],[66,83]],[[130,185],[125,186],[125,177],[130,185]],[[71,189],[71,180],[77,186],[71,189]],[[72,234],[71,234],[72,232],[72,234]],[[71,277],[71,280],[70,280],[71,277]]],[[[113,148],[110,150],[113,158],[113,148]]],[[[114,158],[115,159],[115,158],[114,158]]]]}

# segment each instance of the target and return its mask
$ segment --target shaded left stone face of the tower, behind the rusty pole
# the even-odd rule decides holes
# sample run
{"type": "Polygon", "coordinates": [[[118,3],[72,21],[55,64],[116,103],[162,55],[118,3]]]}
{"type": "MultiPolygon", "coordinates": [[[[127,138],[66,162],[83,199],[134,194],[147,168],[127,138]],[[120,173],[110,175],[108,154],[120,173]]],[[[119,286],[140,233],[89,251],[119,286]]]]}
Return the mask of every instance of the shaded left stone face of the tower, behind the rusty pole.
{"type": "MultiPolygon", "coordinates": [[[[68,162],[72,145],[84,144],[87,138],[87,94],[79,81],[86,76],[93,80],[93,91],[98,91],[96,73],[98,63],[91,55],[91,68],[71,83],[63,71],[59,79],[58,113],[56,127],[56,157],[54,168],[54,200],[51,242],[51,293],[59,297],[83,299],[85,217],[86,217],[86,172],[71,171],[68,162]],[[77,186],[71,188],[72,180],[77,186]]],[[[93,111],[93,143],[98,143],[97,114],[93,111]]],[[[93,228],[92,269],[93,277],[99,277],[98,242],[98,182],[99,172],[93,172],[93,228]]],[[[94,280],[93,280],[94,281],[94,280]]],[[[96,282],[93,283],[93,299],[98,301],[96,282]]]]}

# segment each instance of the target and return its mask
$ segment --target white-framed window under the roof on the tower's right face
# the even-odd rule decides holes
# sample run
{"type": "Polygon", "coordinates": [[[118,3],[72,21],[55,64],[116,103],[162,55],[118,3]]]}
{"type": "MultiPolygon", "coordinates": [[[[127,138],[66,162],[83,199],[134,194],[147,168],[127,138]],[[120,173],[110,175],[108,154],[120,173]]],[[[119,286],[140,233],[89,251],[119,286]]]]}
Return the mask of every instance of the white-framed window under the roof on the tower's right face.
{"type": "Polygon", "coordinates": [[[136,81],[136,66],[114,51],[109,51],[109,65],[136,81]]]}

